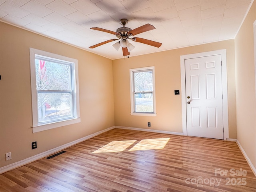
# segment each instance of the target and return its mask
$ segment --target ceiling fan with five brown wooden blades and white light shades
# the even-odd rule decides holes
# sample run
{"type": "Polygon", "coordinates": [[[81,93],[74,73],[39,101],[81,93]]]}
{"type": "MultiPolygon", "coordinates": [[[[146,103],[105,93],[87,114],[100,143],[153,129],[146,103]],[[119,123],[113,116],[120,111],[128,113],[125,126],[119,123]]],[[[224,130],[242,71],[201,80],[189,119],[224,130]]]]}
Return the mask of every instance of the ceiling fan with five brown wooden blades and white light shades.
{"type": "Polygon", "coordinates": [[[143,39],[143,38],[139,38],[139,37],[132,37],[136,34],[140,34],[140,33],[155,29],[154,26],[152,26],[150,24],[146,24],[146,25],[140,26],[140,27],[132,30],[131,28],[125,27],[125,25],[127,23],[128,23],[127,19],[120,19],[120,24],[123,27],[118,28],[116,30],[116,32],[106,30],[106,29],[102,29],[102,28],[98,28],[98,27],[92,27],[91,29],[93,29],[93,30],[98,30],[98,31],[103,31],[103,32],[107,32],[107,33],[110,33],[110,34],[114,34],[118,39],[110,39],[110,40],[98,43],[96,45],[90,46],[89,48],[95,48],[95,47],[104,45],[106,43],[112,42],[112,41],[120,40],[119,42],[113,44],[112,46],[116,50],[118,50],[120,47],[122,47],[123,55],[128,56],[130,54],[130,51],[135,48],[128,41],[128,39],[130,39],[132,41],[144,43],[144,44],[147,44],[147,45],[151,45],[151,46],[154,46],[154,47],[160,47],[162,45],[162,43],[155,42],[155,41],[152,41],[152,40],[143,39]]]}

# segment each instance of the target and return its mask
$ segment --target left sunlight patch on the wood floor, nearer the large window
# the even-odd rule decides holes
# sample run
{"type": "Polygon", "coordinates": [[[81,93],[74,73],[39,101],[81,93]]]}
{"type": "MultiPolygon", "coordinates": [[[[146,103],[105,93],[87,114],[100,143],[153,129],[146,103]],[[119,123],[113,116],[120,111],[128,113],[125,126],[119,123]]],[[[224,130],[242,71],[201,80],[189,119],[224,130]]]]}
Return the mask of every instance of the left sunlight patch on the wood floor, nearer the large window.
{"type": "Polygon", "coordinates": [[[120,152],[128,148],[136,140],[112,141],[92,153],[120,152]]]}

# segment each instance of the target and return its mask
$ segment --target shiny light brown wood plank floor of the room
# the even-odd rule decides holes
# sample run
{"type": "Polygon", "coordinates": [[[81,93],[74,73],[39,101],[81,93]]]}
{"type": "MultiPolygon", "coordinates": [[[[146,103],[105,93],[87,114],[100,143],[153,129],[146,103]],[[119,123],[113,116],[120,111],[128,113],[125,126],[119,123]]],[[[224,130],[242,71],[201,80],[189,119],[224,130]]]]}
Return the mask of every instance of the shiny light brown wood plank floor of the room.
{"type": "Polygon", "coordinates": [[[65,151],[1,174],[0,191],[256,192],[235,142],[116,128],[65,151]]]}

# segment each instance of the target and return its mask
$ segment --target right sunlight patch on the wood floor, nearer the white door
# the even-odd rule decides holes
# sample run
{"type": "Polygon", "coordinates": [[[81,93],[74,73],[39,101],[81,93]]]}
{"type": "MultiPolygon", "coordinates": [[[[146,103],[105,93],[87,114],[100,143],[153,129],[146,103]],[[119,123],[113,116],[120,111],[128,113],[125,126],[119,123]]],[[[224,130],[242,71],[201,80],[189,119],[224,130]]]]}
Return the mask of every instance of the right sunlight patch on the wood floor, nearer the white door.
{"type": "Polygon", "coordinates": [[[143,139],[133,146],[129,151],[163,149],[170,138],[143,139]]]}

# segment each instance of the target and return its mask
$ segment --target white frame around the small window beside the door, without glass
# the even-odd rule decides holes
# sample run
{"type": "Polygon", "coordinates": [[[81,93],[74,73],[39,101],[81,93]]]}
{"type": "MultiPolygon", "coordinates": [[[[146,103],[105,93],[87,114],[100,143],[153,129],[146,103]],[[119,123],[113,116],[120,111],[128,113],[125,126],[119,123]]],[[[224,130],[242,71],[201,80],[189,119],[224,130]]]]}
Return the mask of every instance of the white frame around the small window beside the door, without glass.
{"type": "Polygon", "coordinates": [[[142,67],[130,69],[130,99],[131,99],[131,115],[138,116],[156,116],[156,88],[155,88],[155,67],[142,67]],[[152,70],[152,84],[153,84],[153,110],[154,112],[135,112],[135,102],[134,102],[134,72],[140,72],[145,70],[152,70]]]}

